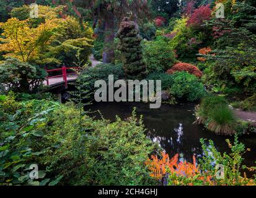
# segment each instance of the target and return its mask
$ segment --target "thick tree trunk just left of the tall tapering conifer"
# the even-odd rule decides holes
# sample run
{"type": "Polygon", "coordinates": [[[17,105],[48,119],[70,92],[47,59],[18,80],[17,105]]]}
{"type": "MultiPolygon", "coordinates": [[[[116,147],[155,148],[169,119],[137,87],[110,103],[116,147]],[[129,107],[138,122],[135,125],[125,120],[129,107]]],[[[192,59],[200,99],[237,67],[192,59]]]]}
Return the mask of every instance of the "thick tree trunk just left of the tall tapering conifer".
{"type": "Polygon", "coordinates": [[[115,38],[115,20],[113,11],[108,11],[108,16],[105,19],[105,40],[104,52],[102,54],[104,63],[113,62],[114,59],[114,38],[115,38]]]}

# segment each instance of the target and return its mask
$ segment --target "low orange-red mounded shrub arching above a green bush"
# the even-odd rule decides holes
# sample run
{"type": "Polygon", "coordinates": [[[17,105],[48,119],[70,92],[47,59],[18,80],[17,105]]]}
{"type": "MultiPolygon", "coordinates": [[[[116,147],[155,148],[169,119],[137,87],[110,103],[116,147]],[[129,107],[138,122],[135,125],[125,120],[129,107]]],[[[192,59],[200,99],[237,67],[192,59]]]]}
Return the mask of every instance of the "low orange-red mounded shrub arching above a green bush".
{"type": "Polygon", "coordinates": [[[179,62],[175,64],[171,69],[167,70],[167,74],[174,74],[175,72],[187,71],[190,74],[195,75],[198,78],[201,78],[203,73],[196,66],[188,64],[185,62],[179,62]]]}

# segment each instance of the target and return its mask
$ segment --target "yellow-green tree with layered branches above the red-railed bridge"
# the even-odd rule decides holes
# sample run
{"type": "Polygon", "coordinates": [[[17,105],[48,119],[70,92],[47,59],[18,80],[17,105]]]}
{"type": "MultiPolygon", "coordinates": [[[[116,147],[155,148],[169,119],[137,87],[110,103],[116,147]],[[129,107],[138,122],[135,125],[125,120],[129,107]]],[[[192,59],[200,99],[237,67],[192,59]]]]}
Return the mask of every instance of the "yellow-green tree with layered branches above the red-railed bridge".
{"type": "Polygon", "coordinates": [[[88,22],[83,24],[74,17],[66,17],[60,22],[60,31],[54,35],[51,45],[44,49],[41,62],[44,65],[65,64],[73,66],[76,62],[76,54],[79,51],[79,59],[82,65],[86,64],[93,47],[93,30],[88,22]]]}

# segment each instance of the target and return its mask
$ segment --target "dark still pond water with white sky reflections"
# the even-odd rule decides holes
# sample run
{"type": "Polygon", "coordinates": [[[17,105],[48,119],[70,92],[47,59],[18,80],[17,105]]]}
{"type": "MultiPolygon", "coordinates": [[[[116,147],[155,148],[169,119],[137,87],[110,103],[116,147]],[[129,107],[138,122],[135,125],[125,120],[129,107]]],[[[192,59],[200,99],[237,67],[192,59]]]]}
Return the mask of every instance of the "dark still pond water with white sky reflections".
{"type": "MultiPolygon", "coordinates": [[[[115,120],[115,116],[125,119],[131,116],[133,108],[139,117],[143,115],[144,125],[148,129],[147,136],[159,144],[173,157],[179,153],[184,160],[192,162],[193,155],[201,157],[202,149],[200,139],[211,139],[216,148],[221,152],[229,152],[226,139],[232,137],[216,136],[213,132],[204,129],[203,126],[193,124],[195,104],[162,105],[159,109],[150,109],[149,104],[144,103],[94,103],[86,106],[92,111],[100,110],[105,119],[115,120]]],[[[96,118],[101,118],[99,113],[94,113],[96,118]]],[[[244,155],[247,166],[255,166],[256,161],[256,136],[240,137],[239,140],[251,149],[244,155]]]]}

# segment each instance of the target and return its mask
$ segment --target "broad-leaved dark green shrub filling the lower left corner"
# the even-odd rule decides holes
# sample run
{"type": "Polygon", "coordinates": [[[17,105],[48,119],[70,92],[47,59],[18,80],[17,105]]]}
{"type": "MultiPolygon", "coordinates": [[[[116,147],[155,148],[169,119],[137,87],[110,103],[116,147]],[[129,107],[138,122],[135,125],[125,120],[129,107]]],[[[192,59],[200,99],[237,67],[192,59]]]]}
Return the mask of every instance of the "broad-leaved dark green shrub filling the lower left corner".
{"type": "Polygon", "coordinates": [[[31,179],[30,165],[38,164],[46,147],[40,147],[40,131],[54,103],[17,102],[14,95],[0,100],[0,174],[4,185],[41,185],[58,183],[58,178],[47,178],[45,166],[40,165],[38,179],[31,179]],[[43,105],[42,105],[43,104],[43,105]]]}

